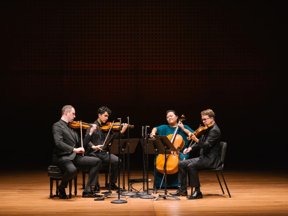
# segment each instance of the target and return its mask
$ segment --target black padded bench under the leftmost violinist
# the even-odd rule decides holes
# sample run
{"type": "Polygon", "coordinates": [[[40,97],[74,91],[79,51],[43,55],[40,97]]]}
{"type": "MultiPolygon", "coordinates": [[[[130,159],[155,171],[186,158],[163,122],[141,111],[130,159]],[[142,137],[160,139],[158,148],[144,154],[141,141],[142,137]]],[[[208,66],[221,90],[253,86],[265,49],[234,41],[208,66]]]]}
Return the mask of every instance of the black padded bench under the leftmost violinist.
{"type": "MultiPolygon", "coordinates": [[[[62,170],[56,166],[47,167],[48,176],[50,177],[50,198],[59,197],[59,180],[62,180],[62,170]],[[53,181],[56,181],[56,195],[53,195],[53,181]]],[[[79,171],[77,170],[77,175],[79,171]]],[[[69,181],[69,198],[72,197],[72,180],[74,179],[74,194],[77,195],[77,175],[69,181]]]]}

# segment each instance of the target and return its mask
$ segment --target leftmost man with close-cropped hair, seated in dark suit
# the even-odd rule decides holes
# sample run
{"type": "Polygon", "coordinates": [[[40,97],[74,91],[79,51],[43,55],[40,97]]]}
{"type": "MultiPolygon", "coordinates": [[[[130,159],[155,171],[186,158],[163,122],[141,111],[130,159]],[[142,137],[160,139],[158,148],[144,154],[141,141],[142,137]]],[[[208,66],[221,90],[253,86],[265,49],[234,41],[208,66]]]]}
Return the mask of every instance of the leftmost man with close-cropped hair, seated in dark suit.
{"type": "Polygon", "coordinates": [[[91,185],[95,185],[98,181],[98,172],[102,166],[102,161],[98,158],[82,155],[85,146],[92,139],[91,134],[98,129],[96,129],[96,125],[92,125],[90,134],[83,140],[82,148],[81,138],[78,133],[69,127],[69,124],[75,118],[74,107],[66,105],[62,108],[61,113],[61,119],[52,127],[55,143],[52,165],[59,167],[64,172],[62,181],[58,186],[59,198],[68,199],[65,188],[70,179],[77,175],[76,167],[90,168],[87,186],[82,193],[82,197],[101,197],[91,191],[91,185]]]}

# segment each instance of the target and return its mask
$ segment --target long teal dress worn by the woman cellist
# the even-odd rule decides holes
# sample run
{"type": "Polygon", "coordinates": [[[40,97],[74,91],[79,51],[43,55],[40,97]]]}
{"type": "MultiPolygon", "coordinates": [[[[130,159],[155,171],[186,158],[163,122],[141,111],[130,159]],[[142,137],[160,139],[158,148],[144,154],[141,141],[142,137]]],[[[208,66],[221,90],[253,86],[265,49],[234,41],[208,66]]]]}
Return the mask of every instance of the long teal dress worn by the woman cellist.
{"type": "MultiPolygon", "coordinates": [[[[189,128],[187,125],[184,125],[184,128],[191,131],[192,133],[194,132],[191,128],[189,128]]],[[[159,127],[156,127],[157,129],[157,135],[165,135],[165,136],[168,136],[169,134],[173,134],[176,127],[171,127],[170,125],[161,125],[159,127]]],[[[183,151],[184,149],[186,149],[189,145],[189,140],[187,140],[187,134],[182,131],[182,129],[179,127],[178,130],[177,130],[177,134],[181,135],[183,140],[184,140],[184,147],[183,147],[183,151]]],[[[157,155],[158,157],[158,155],[157,155]]],[[[179,154],[179,157],[180,157],[180,161],[183,161],[184,158],[185,160],[187,160],[189,158],[189,153],[187,153],[186,155],[183,155],[183,154],[179,154]]],[[[156,187],[159,188],[164,188],[165,187],[165,179],[163,179],[163,176],[164,174],[162,173],[159,173],[159,171],[156,169],[156,187]],[[162,179],[163,179],[163,182],[162,182],[162,179]],[[162,182],[162,184],[161,184],[162,182]]],[[[170,175],[167,175],[167,187],[170,187],[170,189],[173,189],[174,187],[179,187],[180,184],[178,183],[178,172],[177,173],[174,173],[174,174],[170,174],[170,175]]],[[[154,182],[154,187],[155,187],[155,182],[154,182]]]]}

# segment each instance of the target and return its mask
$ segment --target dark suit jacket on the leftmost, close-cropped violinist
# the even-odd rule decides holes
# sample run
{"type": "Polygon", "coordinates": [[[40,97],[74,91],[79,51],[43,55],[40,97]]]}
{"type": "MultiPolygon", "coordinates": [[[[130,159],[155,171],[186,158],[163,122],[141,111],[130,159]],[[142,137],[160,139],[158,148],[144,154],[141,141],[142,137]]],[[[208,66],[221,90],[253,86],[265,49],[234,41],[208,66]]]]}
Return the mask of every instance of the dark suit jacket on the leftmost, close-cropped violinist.
{"type": "MultiPolygon", "coordinates": [[[[55,143],[54,153],[52,155],[52,164],[63,160],[73,160],[76,156],[76,152],[73,152],[73,149],[82,146],[81,138],[76,130],[73,129],[72,131],[68,127],[67,123],[60,119],[59,122],[56,122],[53,125],[52,133],[55,143]]],[[[84,149],[90,140],[91,136],[89,134],[83,139],[84,149]]]]}

